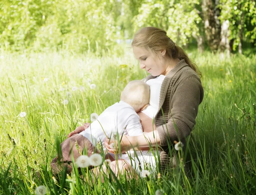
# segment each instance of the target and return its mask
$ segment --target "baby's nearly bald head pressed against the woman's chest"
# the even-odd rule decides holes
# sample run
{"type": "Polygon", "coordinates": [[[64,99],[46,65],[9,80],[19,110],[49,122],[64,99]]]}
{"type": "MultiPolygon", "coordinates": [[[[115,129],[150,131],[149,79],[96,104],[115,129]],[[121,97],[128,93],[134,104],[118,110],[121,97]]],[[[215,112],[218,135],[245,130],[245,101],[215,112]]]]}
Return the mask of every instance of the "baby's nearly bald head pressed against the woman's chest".
{"type": "Polygon", "coordinates": [[[149,103],[150,87],[141,80],[129,82],[122,91],[121,100],[140,112],[149,103]]]}

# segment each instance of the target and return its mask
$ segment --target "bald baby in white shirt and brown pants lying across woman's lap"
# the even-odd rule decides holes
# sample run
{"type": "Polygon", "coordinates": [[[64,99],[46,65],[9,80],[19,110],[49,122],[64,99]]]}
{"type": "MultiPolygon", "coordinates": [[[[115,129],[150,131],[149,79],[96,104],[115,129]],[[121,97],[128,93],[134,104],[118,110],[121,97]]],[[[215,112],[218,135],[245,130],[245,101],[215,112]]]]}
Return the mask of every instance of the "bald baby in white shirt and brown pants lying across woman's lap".
{"type": "MultiPolygon", "coordinates": [[[[96,151],[98,143],[104,143],[105,138],[113,135],[137,136],[143,134],[140,117],[137,112],[142,111],[149,102],[150,87],[141,80],[133,80],[125,86],[121,93],[121,100],[109,106],[97,120],[79,134],[72,135],[61,143],[62,159],[61,164],[67,166],[67,172],[71,172],[73,158],[76,159],[84,147],[87,155],[90,156],[96,151]],[[77,146],[76,146],[77,145],[77,146]],[[79,148],[80,152],[77,150],[79,148]]],[[[103,145],[104,147],[104,145],[103,145]]],[[[105,148],[105,147],[104,147],[105,148]]],[[[99,152],[99,151],[96,151],[99,152]]],[[[51,167],[53,172],[62,169],[57,164],[58,157],[52,160],[51,167]]]]}

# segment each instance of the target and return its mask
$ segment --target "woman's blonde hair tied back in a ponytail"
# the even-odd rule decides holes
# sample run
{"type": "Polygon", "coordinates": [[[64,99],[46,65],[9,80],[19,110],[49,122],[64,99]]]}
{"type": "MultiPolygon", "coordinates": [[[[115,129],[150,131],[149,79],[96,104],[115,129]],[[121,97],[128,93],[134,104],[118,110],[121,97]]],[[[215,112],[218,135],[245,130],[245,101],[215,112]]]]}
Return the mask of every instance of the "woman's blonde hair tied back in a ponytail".
{"type": "Polygon", "coordinates": [[[179,60],[185,60],[185,62],[192,68],[200,77],[196,64],[189,59],[186,52],[183,51],[177,44],[175,44],[167,35],[166,31],[155,27],[145,27],[137,31],[134,35],[134,39],[131,43],[132,46],[142,47],[149,52],[157,52],[162,49],[166,49],[166,55],[169,58],[178,58],[179,60]]]}

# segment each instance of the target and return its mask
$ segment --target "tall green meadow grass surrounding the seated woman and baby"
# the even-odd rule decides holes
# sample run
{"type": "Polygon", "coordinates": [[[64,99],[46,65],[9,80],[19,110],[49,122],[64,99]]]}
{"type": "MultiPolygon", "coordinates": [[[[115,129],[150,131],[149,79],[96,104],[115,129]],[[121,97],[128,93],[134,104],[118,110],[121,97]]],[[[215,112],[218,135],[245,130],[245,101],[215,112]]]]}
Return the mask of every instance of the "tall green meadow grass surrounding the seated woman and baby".
{"type": "Polygon", "coordinates": [[[209,52],[189,55],[202,72],[205,94],[178,168],[139,180],[103,173],[106,182],[93,184],[94,175],[87,169],[82,170],[84,179],[76,168],[71,175],[52,178],[49,164],[57,143],[89,121],[91,113],[100,114],[119,101],[125,84],[146,73],[131,52],[96,57],[2,51],[0,194],[33,194],[40,185],[47,187],[48,194],[155,194],[157,189],[168,195],[254,194],[256,55],[224,59],[209,52]],[[90,89],[91,83],[95,89],[90,89]],[[26,117],[21,118],[20,112],[26,112],[26,117]],[[36,177],[38,170],[41,180],[36,177]]]}

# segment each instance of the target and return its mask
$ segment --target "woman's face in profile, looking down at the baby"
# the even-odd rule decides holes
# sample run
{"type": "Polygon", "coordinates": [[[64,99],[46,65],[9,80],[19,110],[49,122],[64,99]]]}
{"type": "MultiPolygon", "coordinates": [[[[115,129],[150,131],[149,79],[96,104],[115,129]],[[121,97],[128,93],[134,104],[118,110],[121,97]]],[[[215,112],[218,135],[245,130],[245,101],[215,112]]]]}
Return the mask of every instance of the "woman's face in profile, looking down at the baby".
{"type": "Polygon", "coordinates": [[[166,72],[168,65],[163,57],[165,51],[158,51],[156,55],[153,55],[142,47],[133,46],[133,53],[140,62],[140,68],[145,69],[151,75],[159,76],[166,72]]]}

